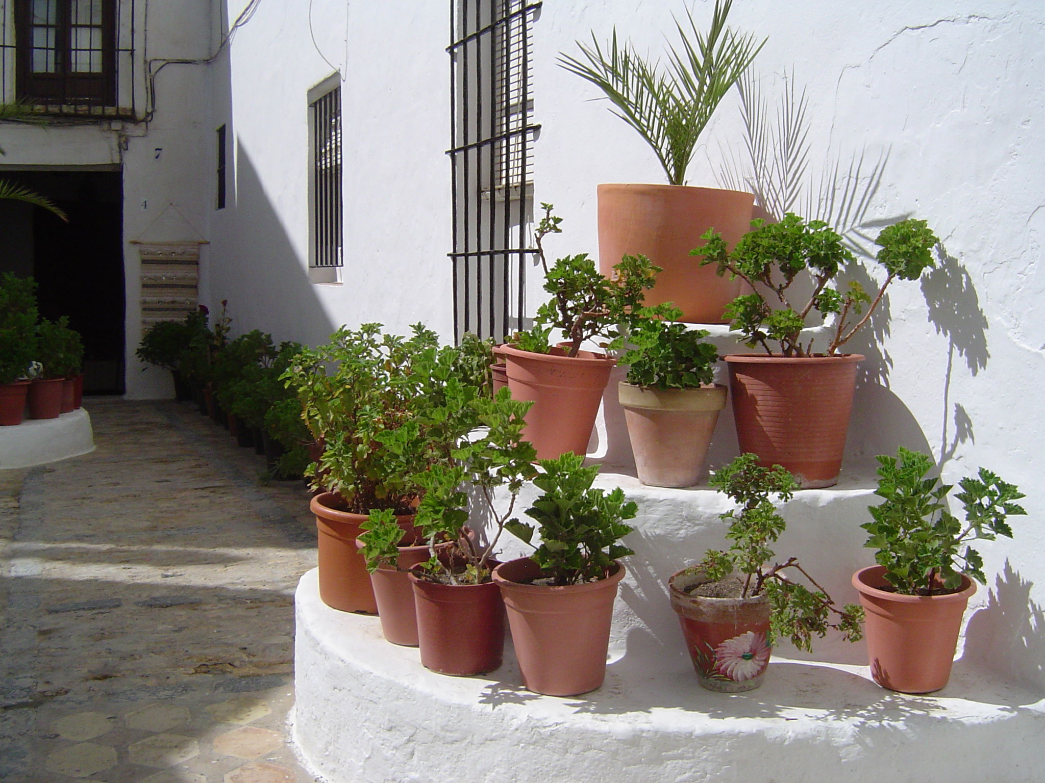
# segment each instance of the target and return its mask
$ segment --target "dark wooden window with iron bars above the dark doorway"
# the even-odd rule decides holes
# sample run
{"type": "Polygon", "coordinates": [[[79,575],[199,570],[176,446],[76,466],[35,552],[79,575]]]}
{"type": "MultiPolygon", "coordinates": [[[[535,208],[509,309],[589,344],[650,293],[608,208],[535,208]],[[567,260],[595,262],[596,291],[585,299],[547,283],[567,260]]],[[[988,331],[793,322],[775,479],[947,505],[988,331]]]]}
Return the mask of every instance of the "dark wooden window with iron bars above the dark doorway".
{"type": "Polygon", "coordinates": [[[55,116],[136,117],[134,0],[0,0],[2,100],[55,116]]]}

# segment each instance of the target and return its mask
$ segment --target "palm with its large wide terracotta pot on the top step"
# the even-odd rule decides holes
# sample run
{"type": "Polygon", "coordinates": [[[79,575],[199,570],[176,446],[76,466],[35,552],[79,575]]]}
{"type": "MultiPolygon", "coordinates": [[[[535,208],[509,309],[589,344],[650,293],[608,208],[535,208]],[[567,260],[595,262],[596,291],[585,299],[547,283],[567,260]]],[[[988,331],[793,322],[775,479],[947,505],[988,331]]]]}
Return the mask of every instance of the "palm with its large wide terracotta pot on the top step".
{"type": "Polygon", "coordinates": [[[753,203],[750,193],[686,185],[697,140],[765,44],[726,26],[730,6],[730,0],[716,0],[706,33],[692,15],[687,26],[676,23],[680,46],[669,46],[666,68],[631,44],[619,45],[616,30],[606,46],[593,33],[590,47],[577,43],[579,57],[559,58],[567,71],[603,91],[617,115],[652,148],[669,182],[599,186],[602,271],[609,276],[625,255],[651,258],[664,272],[646,293],[646,303],[671,301],[681,308],[682,319],[693,323],[722,323],[740,281],[694,267],[687,253],[712,227],[736,242],[747,230],[753,203]]]}

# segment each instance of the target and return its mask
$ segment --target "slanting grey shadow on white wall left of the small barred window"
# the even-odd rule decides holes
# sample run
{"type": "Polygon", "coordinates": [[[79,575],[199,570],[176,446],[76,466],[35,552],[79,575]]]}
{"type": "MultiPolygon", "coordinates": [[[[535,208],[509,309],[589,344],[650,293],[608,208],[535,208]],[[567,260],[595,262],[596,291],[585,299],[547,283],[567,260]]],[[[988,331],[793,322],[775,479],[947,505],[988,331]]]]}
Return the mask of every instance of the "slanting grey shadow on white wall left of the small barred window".
{"type": "Polygon", "coordinates": [[[233,334],[252,329],[309,346],[334,331],[265,189],[241,146],[235,201],[217,220],[229,228],[211,247],[211,299],[229,300],[233,334]]]}

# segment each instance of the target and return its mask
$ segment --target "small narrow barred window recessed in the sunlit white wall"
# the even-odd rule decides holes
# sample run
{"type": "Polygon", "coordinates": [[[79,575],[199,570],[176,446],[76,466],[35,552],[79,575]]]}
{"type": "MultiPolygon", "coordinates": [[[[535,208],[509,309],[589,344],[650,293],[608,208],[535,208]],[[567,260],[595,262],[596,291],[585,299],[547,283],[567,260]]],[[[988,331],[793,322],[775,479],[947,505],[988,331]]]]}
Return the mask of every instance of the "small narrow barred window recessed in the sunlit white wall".
{"type": "MultiPolygon", "coordinates": [[[[344,260],[341,88],[335,87],[312,100],[308,115],[311,158],[308,265],[336,270],[344,260]]],[[[317,282],[334,282],[334,279],[317,282]]]]}

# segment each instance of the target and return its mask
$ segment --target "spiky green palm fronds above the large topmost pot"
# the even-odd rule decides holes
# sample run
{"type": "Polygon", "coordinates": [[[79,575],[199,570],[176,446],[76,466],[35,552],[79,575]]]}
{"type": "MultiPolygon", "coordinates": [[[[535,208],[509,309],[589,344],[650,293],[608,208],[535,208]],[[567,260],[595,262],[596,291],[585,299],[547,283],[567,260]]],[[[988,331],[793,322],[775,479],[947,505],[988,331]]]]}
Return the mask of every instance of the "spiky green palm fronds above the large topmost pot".
{"type": "Polygon", "coordinates": [[[599,87],[617,106],[617,116],[633,127],[656,155],[671,185],[682,185],[697,139],[719,102],[765,45],[751,34],[725,26],[733,0],[716,0],[704,34],[687,11],[692,38],[677,20],[680,49],[669,46],[666,70],[643,57],[630,44],[618,44],[614,28],[604,50],[577,42],[583,58],[562,54],[559,65],[599,87]]]}

